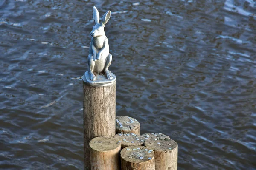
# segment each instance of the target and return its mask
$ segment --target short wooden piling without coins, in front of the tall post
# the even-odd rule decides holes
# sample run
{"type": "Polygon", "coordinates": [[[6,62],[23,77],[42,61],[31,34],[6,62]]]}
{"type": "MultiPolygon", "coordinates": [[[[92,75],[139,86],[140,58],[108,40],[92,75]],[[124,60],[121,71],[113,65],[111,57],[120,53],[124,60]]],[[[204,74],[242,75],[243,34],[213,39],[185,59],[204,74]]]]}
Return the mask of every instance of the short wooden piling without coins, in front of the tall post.
{"type": "Polygon", "coordinates": [[[120,170],[121,145],[118,139],[100,136],[90,141],[91,170],[120,170]]]}

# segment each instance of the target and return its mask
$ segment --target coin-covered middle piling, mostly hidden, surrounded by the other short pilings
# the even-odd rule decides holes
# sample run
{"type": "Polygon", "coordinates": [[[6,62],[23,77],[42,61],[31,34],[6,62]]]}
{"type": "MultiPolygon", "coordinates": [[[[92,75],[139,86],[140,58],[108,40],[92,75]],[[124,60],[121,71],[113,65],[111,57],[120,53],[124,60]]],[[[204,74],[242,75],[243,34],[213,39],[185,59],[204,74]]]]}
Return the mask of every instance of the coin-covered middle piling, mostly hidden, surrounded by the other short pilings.
{"type": "Polygon", "coordinates": [[[128,146],[141,146],[144,144],[145,137],[136,135],[134,133],[118,133],[114,138],[119,139],[121,142],[121,149],[128,146]]]}

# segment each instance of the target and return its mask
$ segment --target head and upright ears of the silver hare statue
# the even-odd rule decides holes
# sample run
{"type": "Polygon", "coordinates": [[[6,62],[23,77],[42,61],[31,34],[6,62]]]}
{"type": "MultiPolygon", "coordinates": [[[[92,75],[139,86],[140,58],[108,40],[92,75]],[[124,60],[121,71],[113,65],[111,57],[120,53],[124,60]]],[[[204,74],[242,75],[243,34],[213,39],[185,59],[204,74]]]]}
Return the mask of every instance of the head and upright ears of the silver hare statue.
{"type": "Polygon", "coordinates": [[[92,37],[99,37],[105,35],[104,27],[110,18],[110,11],[106,12],[102,17],[102,23],[99,23],[99,11],[95,6],[93,6],[93,20],[95,21],[95,26],[93,26],[93,31],[90,32],[92,37]]]}

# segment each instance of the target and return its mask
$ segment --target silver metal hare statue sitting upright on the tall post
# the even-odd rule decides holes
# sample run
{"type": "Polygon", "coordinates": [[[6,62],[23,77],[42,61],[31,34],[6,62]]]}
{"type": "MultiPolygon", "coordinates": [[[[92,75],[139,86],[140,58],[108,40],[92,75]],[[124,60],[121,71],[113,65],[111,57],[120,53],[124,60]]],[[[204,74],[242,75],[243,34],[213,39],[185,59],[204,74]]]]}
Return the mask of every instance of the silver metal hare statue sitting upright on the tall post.
{"type": "Polygon", "coordinates": [[[88,65],[90,80],[95,81],[94,74],[106,74],[107,79],[113,79],[108,67],[112,61],[112,55],[109,53],[108,38],[105,35],[104,27],[110,18],[110,11],[106,12],[102,17],[102,23],[99,23],[99,11],[93,7],[93,20],[95,26],[90,32],[92,36],[88,55],[88,65]]]}

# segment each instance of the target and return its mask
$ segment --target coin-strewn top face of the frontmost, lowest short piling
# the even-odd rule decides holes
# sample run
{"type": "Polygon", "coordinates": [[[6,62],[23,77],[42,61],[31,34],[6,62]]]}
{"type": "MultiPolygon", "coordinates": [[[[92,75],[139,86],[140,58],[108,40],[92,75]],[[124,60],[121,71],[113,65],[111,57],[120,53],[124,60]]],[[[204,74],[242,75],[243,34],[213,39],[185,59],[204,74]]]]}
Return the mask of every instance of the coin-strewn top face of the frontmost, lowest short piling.
{"type": "Polygon", "coordinates": [[[142,163],[154,159],[154,151],[149,147],[130,146],[121,151],[121,158],[131,163],[142,163]]]}

